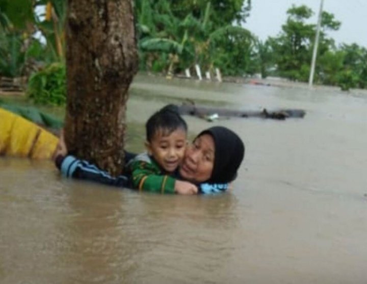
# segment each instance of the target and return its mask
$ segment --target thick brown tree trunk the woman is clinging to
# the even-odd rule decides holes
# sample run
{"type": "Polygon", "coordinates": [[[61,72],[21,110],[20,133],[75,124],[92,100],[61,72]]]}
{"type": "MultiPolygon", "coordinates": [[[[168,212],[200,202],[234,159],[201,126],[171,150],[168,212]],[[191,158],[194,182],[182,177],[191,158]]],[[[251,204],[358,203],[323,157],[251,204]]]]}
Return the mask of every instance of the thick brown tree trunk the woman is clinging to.
{"type": "Polygon", "coordinates": [[[118,175],[127,91],[137,71],[132,1],[68,0],[66,42],[66,145],[118,175]]]}

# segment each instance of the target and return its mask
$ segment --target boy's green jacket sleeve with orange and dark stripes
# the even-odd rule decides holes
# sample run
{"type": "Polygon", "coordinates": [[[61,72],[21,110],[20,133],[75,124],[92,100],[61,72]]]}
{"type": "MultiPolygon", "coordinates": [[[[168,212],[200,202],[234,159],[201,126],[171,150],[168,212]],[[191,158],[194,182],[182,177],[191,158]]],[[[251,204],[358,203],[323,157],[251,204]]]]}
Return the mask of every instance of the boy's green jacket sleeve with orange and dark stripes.
{"type": "Polygon", "coordinates": [[[175,192],[176,179],[169,175],[160,174],[154,165],[144,161],[135,161],[130,165],[130,169],[133,188],[158,193],[175,192]]]}

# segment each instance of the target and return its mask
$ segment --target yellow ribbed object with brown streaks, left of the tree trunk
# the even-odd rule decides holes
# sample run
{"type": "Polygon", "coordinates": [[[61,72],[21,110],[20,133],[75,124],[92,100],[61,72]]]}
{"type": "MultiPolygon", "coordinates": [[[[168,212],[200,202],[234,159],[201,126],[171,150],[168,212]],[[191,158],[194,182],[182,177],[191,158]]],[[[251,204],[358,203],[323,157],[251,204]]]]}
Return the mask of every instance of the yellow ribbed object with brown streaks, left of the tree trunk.
{"type": "Polygon", "coordinates": [[[58,138],[37,124],[0,108],[0,153],[31,159],[51,159],[58,138]]]}

